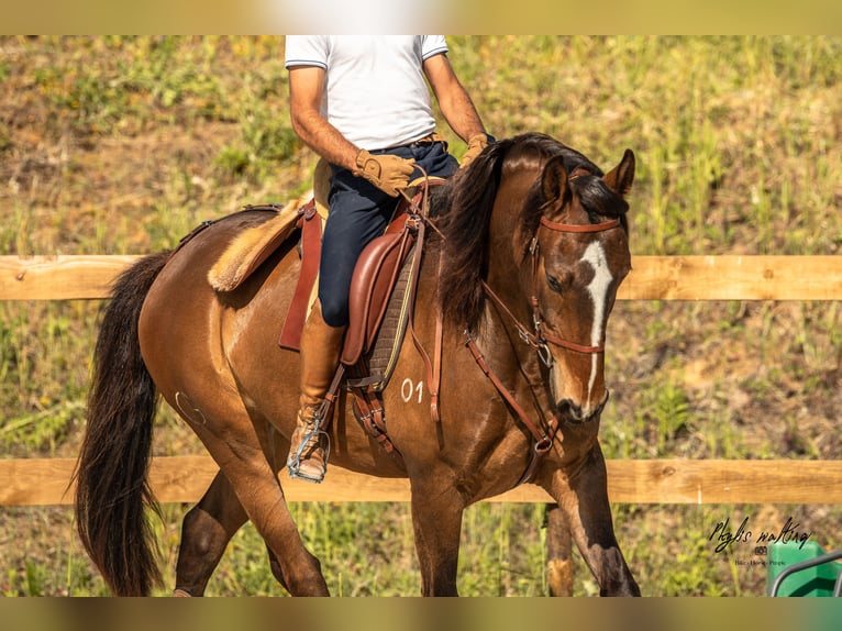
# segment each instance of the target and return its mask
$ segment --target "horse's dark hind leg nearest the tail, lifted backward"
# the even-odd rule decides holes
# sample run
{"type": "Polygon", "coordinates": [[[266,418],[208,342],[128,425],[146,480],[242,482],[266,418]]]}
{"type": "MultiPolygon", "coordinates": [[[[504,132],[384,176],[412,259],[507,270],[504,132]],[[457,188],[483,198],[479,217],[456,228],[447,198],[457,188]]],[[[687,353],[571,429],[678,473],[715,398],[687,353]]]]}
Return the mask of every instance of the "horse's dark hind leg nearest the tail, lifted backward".
{"type": "Polygon", "coordinates": [[[181,523],[176,595],[202,596],[225,546],[248,517],[228,478],[218,473],[181,523]]]}

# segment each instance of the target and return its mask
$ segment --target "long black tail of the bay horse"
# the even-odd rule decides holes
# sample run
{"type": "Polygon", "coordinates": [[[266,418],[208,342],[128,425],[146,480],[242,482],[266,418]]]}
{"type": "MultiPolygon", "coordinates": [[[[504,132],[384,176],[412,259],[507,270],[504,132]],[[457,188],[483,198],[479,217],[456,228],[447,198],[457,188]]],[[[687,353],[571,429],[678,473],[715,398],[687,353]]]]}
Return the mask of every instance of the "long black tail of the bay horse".
{"type": "Polygon", "coordinates": [[[111,294],[93,355],[88,424],[77,463],[76,521],[82,545],[117,596],[160,584],[146,480],[157,390],[141,357],[141,307],[169,252],[124,272],[111,294]]]}

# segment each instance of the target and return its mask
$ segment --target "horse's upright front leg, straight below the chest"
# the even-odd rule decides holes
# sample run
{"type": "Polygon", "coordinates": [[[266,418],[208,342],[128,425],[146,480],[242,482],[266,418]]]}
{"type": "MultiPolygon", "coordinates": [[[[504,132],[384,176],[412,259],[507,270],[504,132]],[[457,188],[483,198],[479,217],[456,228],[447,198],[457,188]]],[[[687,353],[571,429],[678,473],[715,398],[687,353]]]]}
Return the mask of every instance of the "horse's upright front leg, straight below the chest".
{"type": "Polygon", "coordinates": [[[456,571],[464,503],[455,489],[412,483],[412,528],[423,596],[458,596],[456,571]]]}

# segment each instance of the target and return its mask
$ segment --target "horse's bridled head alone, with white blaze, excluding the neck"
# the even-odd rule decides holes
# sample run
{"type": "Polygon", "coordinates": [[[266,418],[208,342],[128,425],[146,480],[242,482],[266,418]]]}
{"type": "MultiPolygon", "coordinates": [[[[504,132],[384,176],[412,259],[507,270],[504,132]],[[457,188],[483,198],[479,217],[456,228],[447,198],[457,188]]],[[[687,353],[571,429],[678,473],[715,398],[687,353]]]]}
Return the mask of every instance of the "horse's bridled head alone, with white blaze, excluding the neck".
{"type": "Polygon", "coordinates": [[[623,199],[634,179],[627,150],[607,175],[567,150],[543,166],[524,208],[533,342],[556,414],[597,418],[608,399],[605,339],[617,289],[631,269],[623,199]],[[531,218],[531,219],[530,219],[531,218]]]}

